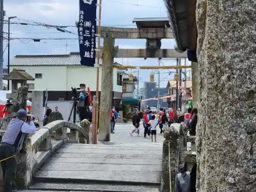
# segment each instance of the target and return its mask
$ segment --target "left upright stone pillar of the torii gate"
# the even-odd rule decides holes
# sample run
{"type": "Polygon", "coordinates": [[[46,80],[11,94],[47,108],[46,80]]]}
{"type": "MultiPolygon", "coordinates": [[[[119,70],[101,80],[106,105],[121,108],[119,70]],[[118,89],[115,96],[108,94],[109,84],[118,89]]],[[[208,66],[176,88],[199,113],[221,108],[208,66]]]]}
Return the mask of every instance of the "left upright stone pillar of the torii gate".
{"type": "Polygon", "coordinates": [[[110,141],[110,111],[115,39],[104,38],[99,108],[99,141],[110,141]]]}

